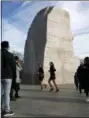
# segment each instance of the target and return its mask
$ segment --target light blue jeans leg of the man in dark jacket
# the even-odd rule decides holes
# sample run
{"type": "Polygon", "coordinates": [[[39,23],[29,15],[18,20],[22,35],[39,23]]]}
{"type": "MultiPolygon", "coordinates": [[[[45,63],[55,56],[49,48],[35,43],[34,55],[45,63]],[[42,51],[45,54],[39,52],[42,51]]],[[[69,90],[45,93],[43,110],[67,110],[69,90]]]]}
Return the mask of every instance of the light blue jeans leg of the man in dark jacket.
{"type": "Polygon", "coordinates": [[[11,79],[5,80],[5,111],[9,112],[10,109],[10,90],[11,90],[11,79]]]}

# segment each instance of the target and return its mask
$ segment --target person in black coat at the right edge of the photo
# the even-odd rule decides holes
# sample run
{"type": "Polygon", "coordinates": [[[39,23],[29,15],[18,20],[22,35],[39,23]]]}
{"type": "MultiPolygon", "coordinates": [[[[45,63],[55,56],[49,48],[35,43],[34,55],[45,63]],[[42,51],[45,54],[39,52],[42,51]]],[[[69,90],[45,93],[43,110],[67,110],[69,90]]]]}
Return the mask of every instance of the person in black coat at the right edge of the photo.
{"type": "Polygon", "coordinates": [[[89,57],[84,59],[84,64],[79,66],[77,76],[82,89],[85,90],[87,96],[86,101],[89,102],[89,57]]]}

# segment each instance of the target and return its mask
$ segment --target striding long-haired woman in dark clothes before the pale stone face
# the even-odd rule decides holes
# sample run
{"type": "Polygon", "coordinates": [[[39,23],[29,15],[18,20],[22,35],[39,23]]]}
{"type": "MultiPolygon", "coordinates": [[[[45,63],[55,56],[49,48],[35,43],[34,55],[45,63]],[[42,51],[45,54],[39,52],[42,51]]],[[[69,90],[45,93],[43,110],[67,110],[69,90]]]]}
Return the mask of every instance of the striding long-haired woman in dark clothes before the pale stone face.
{"type": "Polygon", "coordinates": [[[59,91],[59,88],[57,87],[57,84],[56,84],[56,82],[55,82],[55,79],[56,79],[55,71],[56,71],[56,69],[55,69],[55,67],[54,67],[53,62],[50,62],[49,65],[50,65],[50,69],[49,69],[50,78],[49,78],[49,80],[48,80],[48,83],[49,83],[49,86],[51,87],[50,91],[53,91],[53,90],[54,90],[54,88],[53,88],[53,86],[52,86],[52,84],[51,84],[51,81],[52,81],[53,84],[54,84],[54,86],[55,86],[55,88],[56,88],[56,92],[58,92],[58,91],[59,91]]]}

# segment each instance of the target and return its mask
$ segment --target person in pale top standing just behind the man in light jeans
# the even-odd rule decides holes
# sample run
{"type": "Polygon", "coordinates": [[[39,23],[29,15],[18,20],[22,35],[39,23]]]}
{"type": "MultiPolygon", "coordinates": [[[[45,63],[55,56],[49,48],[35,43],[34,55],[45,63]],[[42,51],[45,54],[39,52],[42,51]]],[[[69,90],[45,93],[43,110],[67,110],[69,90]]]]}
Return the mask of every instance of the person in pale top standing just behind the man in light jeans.
{"type": "Polygon", "coordinates": [[[19,63],[19,57],[15,56],[16,60],[16,89],[15,89],[15,98],[20,98],[19,96],[19,90],[20,90],[20,83],[21,83],[21,78],[20,78],[20,72],[22,70],[22,67],[19,63]]]}

